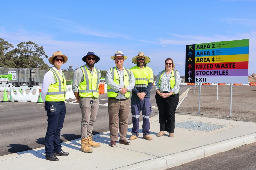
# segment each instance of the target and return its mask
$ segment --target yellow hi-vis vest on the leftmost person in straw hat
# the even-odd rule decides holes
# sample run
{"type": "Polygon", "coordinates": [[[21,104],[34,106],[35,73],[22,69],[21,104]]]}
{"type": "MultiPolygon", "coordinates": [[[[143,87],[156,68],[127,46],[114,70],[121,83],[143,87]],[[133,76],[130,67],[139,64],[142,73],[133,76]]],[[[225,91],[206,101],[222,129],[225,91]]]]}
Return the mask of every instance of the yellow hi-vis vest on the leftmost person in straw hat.
{"type": "MultiPolygon", "coordinates": [[[[45,96],[45,101],[65,101],[65,94],[66,94],[66,79],[61,72],[61,75],[56,72],[55,69],[50,69],[53,72],[53,75],[56,78],[56,83],[51,84],[49,86],[48,92],[45,96]]],[[[50,71],[49,70],[49,71],[50,71]]]]}

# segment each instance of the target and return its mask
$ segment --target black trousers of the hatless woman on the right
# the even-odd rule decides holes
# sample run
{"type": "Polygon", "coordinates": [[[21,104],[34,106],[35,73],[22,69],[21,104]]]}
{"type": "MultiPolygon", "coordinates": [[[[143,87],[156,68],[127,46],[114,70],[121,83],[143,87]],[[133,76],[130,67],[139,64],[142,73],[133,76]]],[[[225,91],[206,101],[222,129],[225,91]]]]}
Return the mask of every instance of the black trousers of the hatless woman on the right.
{"type": "MultiPolygon", "coordinates": [[[[163,92],[169,93],[169,92],[163,92]]],[[[160,131],[174,132],[175,111],[179,102],[179,94],[172,94],[170,97],[162,98],[156,92],[156,104],[159,111],[160,131]]]]}

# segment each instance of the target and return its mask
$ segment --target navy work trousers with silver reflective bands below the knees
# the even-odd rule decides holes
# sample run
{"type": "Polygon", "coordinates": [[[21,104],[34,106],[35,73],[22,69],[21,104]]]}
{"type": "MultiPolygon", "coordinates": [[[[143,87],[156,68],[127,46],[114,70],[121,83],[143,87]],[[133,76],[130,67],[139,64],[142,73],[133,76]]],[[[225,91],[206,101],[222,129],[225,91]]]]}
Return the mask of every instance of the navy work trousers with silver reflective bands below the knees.
{"type": "Polygon", "coordinates": [[[140,100],[138,97],[132,96],[131,109],[132,109],[132,124],[133,124],[132,135],[139,136],[140,112],[142,112],[142,116],[143,116],[142,133],[143,135],[149,135],[149,129],[150,129],[149,115],[151,114],[151,111],[152,111],[150,98],[146,97],[143,100],[140,100]]]}

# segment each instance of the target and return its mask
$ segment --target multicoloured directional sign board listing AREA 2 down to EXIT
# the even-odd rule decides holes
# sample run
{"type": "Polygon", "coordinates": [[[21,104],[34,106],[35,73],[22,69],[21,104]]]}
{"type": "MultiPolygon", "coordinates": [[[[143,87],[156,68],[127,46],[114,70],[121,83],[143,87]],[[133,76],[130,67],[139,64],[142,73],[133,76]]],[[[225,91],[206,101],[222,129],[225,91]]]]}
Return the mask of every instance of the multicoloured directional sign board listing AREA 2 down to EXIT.
{"type": "Polygon", "coordinates": [[[248,83],[249,39],[186,45],[187,83],[248,83]]]}

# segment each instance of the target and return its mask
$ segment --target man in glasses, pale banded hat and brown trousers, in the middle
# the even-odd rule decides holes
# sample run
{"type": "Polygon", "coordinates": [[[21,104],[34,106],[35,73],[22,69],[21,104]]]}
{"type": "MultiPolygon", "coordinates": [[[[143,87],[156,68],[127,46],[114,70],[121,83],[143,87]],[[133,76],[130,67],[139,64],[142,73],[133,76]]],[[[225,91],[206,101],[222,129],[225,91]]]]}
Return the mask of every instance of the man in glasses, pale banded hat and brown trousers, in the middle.
{"type": "Polygon", "coordinates": [[[108,69],[106,74],[108,92],[108,114],[109,114],[109,146],[116,146],[119,128],[119,143],[128,145],[126,140],[128,130],[128,117],[130,113],[130,91],[134,88],[135,78],[132,72],[123,67],[124,56],[122,51],[117,51],[110,57],[116,66],[108,69]]]}

